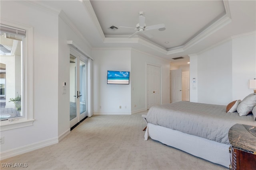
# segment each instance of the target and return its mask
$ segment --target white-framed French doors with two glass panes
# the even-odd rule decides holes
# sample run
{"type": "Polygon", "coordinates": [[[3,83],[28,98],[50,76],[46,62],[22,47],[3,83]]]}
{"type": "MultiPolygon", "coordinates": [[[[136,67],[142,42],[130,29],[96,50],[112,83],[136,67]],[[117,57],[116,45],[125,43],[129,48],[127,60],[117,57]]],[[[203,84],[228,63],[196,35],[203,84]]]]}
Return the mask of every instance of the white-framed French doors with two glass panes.
{"type": "Polygon", "coordinates": [[[85,57],[70,51],[70,127],[88,116],[87,63],[85,57]]]}

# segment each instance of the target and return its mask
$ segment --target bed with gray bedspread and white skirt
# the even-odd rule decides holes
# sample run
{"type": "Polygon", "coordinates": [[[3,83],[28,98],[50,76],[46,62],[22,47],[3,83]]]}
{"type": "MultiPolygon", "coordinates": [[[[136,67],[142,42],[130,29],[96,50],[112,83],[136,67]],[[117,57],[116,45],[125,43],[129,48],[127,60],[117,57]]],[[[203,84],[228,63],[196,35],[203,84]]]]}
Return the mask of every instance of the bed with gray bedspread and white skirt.
{"type": "MultiPolygon", "coordinates": [[[[256,95],[253,97],[253,105],[256,105],[256,95]]],[[[242,102],[236,103],[238,107],[242,102]]],[[[142,115],[147,122],[144,140],[150,137],[165,145],[229,167],[228,131],[236,123],[255,126],[252,107],[248,115],[240,116],[236,108],[233,113],[227,113],[227,106],[214,104],[181,101],[153,106],[147,115],[142,115]]]]}

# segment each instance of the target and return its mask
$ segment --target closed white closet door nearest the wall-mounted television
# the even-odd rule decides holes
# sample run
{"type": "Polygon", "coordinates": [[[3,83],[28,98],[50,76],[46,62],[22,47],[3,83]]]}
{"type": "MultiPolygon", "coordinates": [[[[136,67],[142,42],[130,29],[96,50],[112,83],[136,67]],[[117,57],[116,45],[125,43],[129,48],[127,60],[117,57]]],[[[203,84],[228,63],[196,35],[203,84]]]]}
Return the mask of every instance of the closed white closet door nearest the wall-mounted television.
{"type": "Polygon", "coordinates": [[[160,104],[160,67],[147,64],[147,109],[160,104]]]}

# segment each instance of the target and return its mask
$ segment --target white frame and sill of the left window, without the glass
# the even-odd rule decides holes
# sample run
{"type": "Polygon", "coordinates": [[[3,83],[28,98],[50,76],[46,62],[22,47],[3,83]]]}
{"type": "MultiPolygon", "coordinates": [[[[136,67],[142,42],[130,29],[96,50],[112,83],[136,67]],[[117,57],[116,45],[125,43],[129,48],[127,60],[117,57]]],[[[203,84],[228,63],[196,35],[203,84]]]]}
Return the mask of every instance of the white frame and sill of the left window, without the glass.
{"type": "Polygon", "coordinates": [[[21,127],[32,126],[34,123],[33,112],[33,27],[23,25],[20,23],[10,22],[1,18],[1,25],[5,27],[13,27],[17,29],[24,29],[26,31],[26,37],[23,39],[23,86],[22,94],[23,98],[23,117],[13,117],[8,120],[0,121],[0,131],[6,131],[10,129],[16,129],[21,127]]]}

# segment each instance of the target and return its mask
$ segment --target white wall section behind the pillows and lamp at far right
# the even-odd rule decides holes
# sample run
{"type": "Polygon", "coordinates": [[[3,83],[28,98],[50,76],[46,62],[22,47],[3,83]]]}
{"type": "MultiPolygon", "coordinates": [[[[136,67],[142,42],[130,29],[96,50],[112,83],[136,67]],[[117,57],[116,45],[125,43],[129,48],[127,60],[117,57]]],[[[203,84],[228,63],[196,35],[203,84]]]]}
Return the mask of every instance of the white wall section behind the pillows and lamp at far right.
{"type": "Polygon", "coordinates": [[[256,78],[255,41],[255,32],[232,38],[232,100],[242,100],[253,93],[248,80],[256,78]]]}

